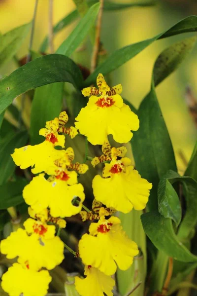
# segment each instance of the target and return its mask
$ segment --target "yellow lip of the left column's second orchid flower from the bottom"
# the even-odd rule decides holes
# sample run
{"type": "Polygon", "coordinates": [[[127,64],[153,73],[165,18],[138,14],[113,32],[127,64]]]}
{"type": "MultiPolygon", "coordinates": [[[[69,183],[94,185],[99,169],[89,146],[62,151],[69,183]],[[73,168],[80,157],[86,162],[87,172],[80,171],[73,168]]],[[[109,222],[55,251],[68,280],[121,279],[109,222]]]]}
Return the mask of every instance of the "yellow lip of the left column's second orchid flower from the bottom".
{"type": "Polygon", "coordinates": [[[50,270],[59,265],[64,259],[64,243],[54,237],[52,228],[49,230],[49,225],[43,225],[39,232],[38,227],[30,229],[29,222],[24,225],[27,230],[19,228],[1,241],[1,253],[8,259],[19,257],[19,263],[28,261],[29,268],[35,271],[42,267],[50,270]],[[50,232],[48,238],[46,232],[50,232]]]}

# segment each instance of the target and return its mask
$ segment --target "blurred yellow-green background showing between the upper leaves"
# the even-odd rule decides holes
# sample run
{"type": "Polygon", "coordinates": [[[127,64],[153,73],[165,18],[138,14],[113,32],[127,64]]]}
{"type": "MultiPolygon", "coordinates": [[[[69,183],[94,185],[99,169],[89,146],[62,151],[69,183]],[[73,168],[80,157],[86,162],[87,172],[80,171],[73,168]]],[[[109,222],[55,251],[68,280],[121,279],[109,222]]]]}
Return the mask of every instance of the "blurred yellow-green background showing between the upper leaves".
{"type": "MultiPolygon", "coordinates": [[[[139,0],[113,0],[131,3],[139,0]]],[[[147,0],[148,1],[148,0],[147,0]]],[[[33,17],[34,0],[0,0],[0,32],[30,22],[33,17]]],[[[75,5],[72,0],[54,0],[54,19],[56,24],[75,5]]],[[[127,44],[153,37],[186,16],[197,14],[196,0],[158,0],[155,6],[127,8],[121,11],[104,12],[101,41],[107,53],[127,44]]],[[[55,38],[55,49],[71,32],[71,24],[55,38]]],[[[38,50],[48,32],[48,0],[38,1],[33,50],[38,50]]],[[[138,108],[141,100],[149,91],[154,61],[164,48],[171,43],[189,37],[181,35],[156,41],[124,66],[111,74],[112,85],[123,84],[123,97],[138,108]]],[[[18,58],[28,52],[29,38],[18,52],[18,58]]],[[[89,47],[88,47],[89,48],[89,47]]],[[[73,55],[75,61],[89,67],[88,54],[78,51],[73,55]]],[[[1,70],[0,75],[9,74],[15,69],[10,62],[1,70]]],[[[184,164],[179,156],[181,150],[189,160],[194,147],[197,130],[185,102],[185,89],[190,85],[197,95],[197,47],[174,74],[171,74],[156,89],[164,119],[176,153],[180,173],[184,164]]]]}

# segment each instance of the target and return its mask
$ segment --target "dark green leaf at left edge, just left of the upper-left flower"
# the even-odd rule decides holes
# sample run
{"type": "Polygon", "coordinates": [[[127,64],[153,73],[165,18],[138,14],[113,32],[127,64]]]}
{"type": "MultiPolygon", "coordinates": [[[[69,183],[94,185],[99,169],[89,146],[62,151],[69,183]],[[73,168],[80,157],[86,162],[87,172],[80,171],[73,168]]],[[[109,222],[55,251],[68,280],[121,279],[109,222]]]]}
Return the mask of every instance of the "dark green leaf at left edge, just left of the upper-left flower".
{"type": "Polygon", "coordinates": [[[27,132],[15,133],[0,147],[0,185],[6,182],[13,174],[16,165],[10,154],[15,148],[20,148],[27,143],[27,132]]]}

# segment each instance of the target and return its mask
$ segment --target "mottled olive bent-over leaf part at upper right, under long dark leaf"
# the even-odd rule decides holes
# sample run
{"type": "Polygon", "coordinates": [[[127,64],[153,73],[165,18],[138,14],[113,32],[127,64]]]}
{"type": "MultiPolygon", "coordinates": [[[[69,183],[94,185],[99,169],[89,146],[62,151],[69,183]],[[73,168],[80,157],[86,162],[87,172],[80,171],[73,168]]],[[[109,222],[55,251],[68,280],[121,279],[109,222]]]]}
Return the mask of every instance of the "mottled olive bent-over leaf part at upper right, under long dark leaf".
{"type": "Polygon", "coordinates": [[[176,42],[165,49],[157,58],[154,65],[154,82],[157,86],[165,77],[171,74],[190,54],[197,41],[197,36],[176,42]]]}

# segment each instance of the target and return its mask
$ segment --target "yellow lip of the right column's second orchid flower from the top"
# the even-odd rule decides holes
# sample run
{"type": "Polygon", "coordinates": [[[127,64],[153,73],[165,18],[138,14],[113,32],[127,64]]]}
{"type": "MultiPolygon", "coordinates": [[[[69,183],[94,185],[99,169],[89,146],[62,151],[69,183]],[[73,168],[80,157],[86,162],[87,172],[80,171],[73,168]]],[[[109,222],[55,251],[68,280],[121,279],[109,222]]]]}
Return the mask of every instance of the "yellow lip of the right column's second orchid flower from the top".
{"type": "Polygon", "coordinates": [[[129,158],[105,163],[102,177],[93,179],[96,200],[123,213],[146,207],[152,184],[141,178],[129,158]]]}

